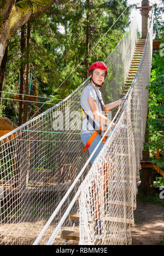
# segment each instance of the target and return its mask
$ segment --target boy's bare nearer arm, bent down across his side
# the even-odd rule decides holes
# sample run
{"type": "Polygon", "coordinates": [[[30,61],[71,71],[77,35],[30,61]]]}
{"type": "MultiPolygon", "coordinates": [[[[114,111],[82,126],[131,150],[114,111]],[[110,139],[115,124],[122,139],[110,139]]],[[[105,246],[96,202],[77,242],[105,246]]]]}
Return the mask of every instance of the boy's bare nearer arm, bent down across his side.
{"type": "MultiPolygon", "coordinates": [[[[111,121],[104,117],[103,114],[101,114],[98,110],[96,100],[93,97],[88,98],[89,106],[90,109],[93,113],[93,117],[95,118],[96,121],[98,121],[102,125],[109,126],[111,121]]],[[[114,126],[114,123],[112,124],[112,127],[114,126]]]]}

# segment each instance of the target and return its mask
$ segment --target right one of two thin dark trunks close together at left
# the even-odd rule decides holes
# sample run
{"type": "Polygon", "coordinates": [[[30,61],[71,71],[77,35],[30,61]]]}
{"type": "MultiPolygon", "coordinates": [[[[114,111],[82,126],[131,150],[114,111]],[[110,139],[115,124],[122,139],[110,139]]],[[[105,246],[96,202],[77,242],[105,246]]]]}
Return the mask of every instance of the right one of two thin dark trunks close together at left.
{"type": "MultiPolygon", "coordinates": [[[[30,85],[30,21],[27,22],[27,48],[26,48],[26,86],[25,86],[25,94],[29,94],[29,85],[30,85]]],[[[24,123],[28,120],[28,105],[29,102],[28,96],[25,96],[24,102],[24,123]]]]}

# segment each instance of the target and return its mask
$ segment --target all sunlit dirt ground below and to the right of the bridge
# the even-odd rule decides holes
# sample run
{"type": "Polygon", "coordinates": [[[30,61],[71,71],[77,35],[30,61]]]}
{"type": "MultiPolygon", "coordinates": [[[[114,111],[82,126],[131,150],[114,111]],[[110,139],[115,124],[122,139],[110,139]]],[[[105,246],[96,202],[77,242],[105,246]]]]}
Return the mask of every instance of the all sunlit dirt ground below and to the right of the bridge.
{"type": "MultiPolygon", "coordinates": [[[[45,224],[45,223],[44,223],[45,224]]],[[[0,228],[0,244],[2,245],[32,245],[34,239],[42,230],[40,223],[14,223],[5,224],[0,228]],[[3,237],[8,230],[8,236],[3,237]]],[[[45,235],[45,244],[54,231],[55,225],[51,225],[45,235]]],[[[78,230],[78,227],[75,227],[78,230]]],[[[131,228],[132,245],[157,245],[164,235],[164,203],[150,203],[137,201],[134,211],[134,226],[131,228]]],[[[64,245],[65,240],[58,235],[54,245],[64,245]]],[[[78,245],[78,241],[68,241],[67,245],[78,245]]]]}

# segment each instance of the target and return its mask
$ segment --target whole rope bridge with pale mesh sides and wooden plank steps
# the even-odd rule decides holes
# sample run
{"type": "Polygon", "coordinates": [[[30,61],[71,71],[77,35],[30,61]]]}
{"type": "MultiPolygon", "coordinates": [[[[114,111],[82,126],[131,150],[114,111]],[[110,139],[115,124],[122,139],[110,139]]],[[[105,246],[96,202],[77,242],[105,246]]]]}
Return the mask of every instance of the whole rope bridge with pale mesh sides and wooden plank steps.
{"type": "Polygon", "coordinates": [[[65,100],[0,138],[2,245],[62,245],[70,234],[80,245],[131,244],[152,31],[153,22],[147,39],[139,40],[131,22],[104,61],[109,70],[101,89],[104,103],[121,94],[126,100],[112,110],[115,127],[108,133],[109,126],[92,166],[96,149],[91,156],[83,153],[80,139],[80,95],[89,78],[65,100]]]}

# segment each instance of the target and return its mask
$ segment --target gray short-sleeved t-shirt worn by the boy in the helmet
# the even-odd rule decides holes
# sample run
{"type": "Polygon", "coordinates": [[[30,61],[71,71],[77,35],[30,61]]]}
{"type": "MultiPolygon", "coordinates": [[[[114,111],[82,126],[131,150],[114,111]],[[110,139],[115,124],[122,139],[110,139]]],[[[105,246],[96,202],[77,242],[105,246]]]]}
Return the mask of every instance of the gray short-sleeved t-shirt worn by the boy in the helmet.
{"type": "MultiPolygon", "coordinates": [[[[91,84],[87,85],[81,92],[80,104],[81,104],[81,107],[85,110],[85,112],[89,115],[89,117],[91,117],[93,119],[93,121],[95,121],[96,125],[99,127],[99,126],[101,126],[101,124],[93,118],[93,114],[92,114],[92,111],[90,109],[89,102],[88,102],[89,97],[94,98],[96,100],[99,112],[102,113],[101,104],[99,103],[99,100],[101,100],[102,104],[104,105],[102,96],[101,96],[101,91],[99,91],[99,90],[95,91],[95,90],[96,89],[91,84]],[[99,100],[98,100],[96,92],[98,94],[99,100]]],[[[93,126],[89,123],[89,121],[85,117],[83,119],[81,133],[89,133],[89,132],[93,133],[94,131],[95,130],[93,129],[93,126]]]]}

